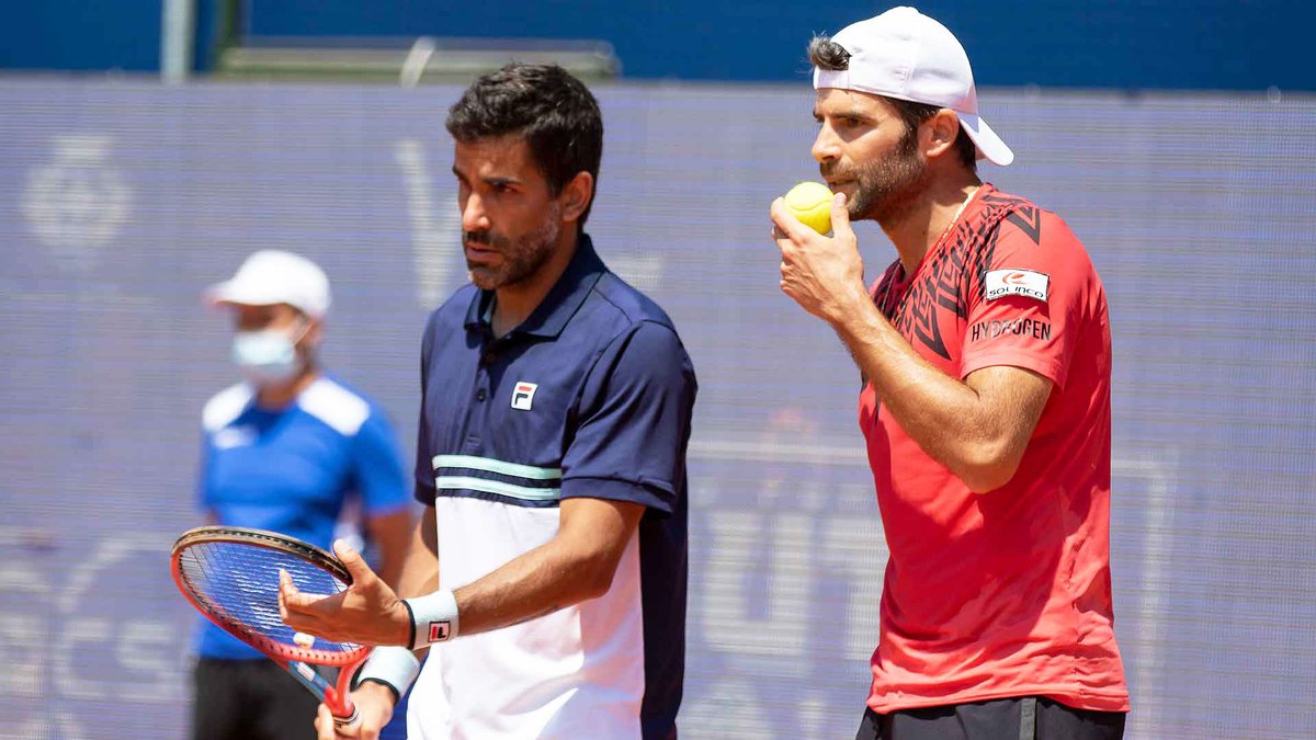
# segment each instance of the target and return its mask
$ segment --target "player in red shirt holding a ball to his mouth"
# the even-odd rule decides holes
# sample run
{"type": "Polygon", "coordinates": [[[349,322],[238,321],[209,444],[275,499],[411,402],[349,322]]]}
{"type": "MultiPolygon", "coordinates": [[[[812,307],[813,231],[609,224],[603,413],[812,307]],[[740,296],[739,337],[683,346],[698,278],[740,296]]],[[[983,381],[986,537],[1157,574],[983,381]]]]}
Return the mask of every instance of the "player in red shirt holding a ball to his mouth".
{"type": "Polygon", "coordinates": [[[834,236],[771,219],[782,290],[865,378],[891,556],[857,737],[1123,737],[1101,280],[1065,221],[979,179],[1013,153],[945,26],[895,8],[809,58],[834,236]],[[871,291],[851,220],[899,254],[871,291]]]}

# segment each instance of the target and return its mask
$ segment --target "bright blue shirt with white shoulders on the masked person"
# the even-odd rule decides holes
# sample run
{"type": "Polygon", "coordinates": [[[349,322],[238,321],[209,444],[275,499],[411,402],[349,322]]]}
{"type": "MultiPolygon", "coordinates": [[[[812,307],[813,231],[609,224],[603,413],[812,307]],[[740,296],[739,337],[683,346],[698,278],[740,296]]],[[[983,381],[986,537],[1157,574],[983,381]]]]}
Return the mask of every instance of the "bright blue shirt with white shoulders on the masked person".
{"type": "MultiPolygon", "coordinates": [[[[332,377],[276,411],[257,406],[255,388],[238,383],[211,398],[201,424],[197,494],[218,524],[272,529],[328,549],[347,498],[359,496],[368,516],[412,506],[383,410],[332,377]]],[[[265,658],[205,620],[197,653],[265,658]]]]}

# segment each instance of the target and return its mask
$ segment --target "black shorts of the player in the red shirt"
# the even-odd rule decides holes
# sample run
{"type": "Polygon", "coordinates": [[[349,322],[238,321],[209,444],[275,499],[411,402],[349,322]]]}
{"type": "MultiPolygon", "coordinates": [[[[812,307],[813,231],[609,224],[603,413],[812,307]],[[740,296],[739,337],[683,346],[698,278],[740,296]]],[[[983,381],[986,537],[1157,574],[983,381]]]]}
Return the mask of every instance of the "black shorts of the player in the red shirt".
{"type": "Polygon", "coordinates": [[[855,740],[1120,740],[1124,712],[1076,710],[1045,697],[1017,697],[863,712],[855,740]]]}

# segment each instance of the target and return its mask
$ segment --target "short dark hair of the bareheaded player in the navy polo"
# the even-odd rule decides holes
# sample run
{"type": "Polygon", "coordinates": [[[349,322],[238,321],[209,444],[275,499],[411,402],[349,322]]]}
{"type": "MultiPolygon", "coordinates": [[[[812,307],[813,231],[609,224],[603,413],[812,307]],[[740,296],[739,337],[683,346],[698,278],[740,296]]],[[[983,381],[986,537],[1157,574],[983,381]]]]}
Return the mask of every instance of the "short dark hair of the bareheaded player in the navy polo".
{"type": "MultiPolygon", "coordinates": [[[[599,187],[603,159],[603,115],[586,86],[557,65],[507,65],[480,76],[447,111],[447,133],[463,144],[515,134],[530,147],[554,196],[578,172],[599,187]]],[[[594,205],[580,213],[584,228],[594,205]]]]}

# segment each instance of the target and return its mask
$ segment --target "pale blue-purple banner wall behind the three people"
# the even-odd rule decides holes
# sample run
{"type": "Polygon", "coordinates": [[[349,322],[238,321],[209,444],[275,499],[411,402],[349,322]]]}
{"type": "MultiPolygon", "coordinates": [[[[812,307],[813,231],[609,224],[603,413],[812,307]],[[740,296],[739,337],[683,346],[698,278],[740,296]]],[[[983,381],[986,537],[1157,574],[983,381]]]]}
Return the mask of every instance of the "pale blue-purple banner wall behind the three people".
{"type": "MultiPolygon", "coordinates": [[[[425,316],[465,280],[457,88],[0,83],[0,708],[17,737],[178,737],[200,407],[236,379],[199,294],[318,261],[325,358],[413,444],[425,316]]],[[[886,557],[858,378],[778,288],[767,204],[816,175],[812,92],[599,90],[590,232],[701,381],[682,735],[854,732],[886,557]]],[[[1136,739],[1316,726],[1316,101],[984,91],[983,167],[1069,220],[1112,307],[1117,635],[1136,739]]],[[[894,251],[861,225],[870,277],[894,251]]]]}

